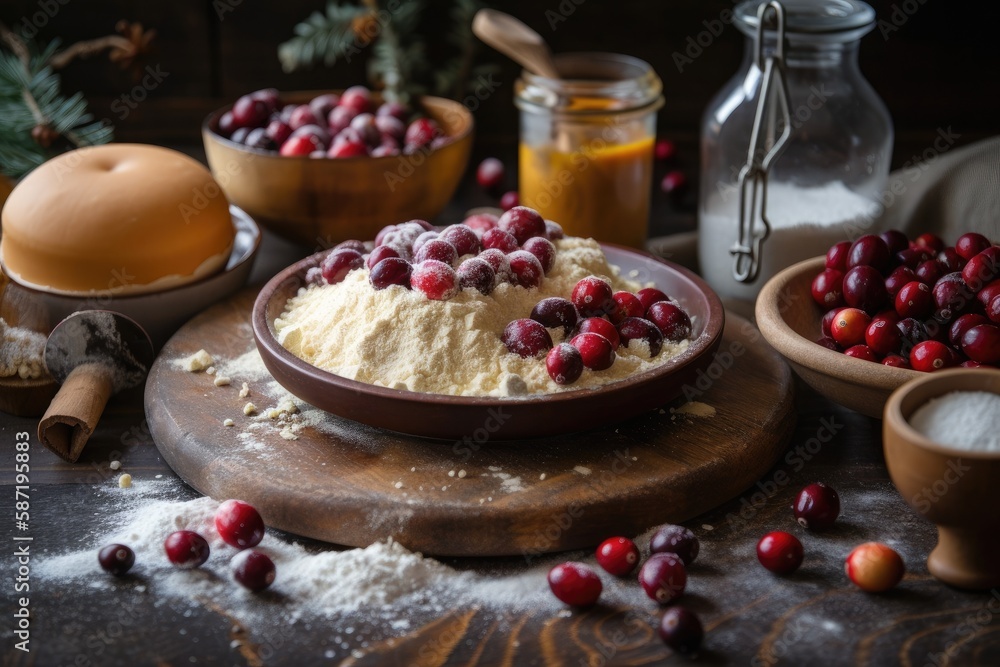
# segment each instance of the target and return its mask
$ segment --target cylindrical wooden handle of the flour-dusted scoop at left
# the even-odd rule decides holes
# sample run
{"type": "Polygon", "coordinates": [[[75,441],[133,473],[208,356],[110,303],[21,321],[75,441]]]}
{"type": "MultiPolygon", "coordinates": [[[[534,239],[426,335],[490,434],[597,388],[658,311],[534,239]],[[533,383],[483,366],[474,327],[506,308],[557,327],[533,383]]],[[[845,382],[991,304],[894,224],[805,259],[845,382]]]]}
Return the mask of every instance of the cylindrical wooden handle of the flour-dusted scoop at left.
{"type": "Polygon", "coordinates": [[[109,370],[100,364],[74,368],[38,423],[38,439],[59,458],[76,463],[111,397],[109,370]]]}

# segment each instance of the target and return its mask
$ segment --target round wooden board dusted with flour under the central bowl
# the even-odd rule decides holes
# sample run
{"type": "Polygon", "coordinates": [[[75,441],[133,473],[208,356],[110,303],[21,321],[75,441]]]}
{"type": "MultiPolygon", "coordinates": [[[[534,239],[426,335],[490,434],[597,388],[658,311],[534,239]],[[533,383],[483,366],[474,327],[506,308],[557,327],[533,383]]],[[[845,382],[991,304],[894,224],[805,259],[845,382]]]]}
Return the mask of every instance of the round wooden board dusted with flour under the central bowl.
{"type": "Polygon", "coordinates": [[[254,297],[246,290],[213,306],[163,348],[146,383],[150,432],[200,492],[241,498],[269,526],[328,542],[367,546],[391,536],[438,556],[590,547],[735,497],[771,467],[794,428],[788,366],[749,322],[728,315],[716,362],[685,392],[714,407],[713,417],[673,413],[681,398],[608,428],[491,442],[484,416],[482,430],[444,442],[300,405],[312,425],[286,440],[266,416],[242,413],[247,400],[276,404],[266,380],[250,381],[251,396],[239,398],[236,374],[231,386],[215,387],[211,376],[171,363],[202,348],[217,359],[251,351],[254,297]],[[225,418],[236,425],[223,426],[225,418]]]}

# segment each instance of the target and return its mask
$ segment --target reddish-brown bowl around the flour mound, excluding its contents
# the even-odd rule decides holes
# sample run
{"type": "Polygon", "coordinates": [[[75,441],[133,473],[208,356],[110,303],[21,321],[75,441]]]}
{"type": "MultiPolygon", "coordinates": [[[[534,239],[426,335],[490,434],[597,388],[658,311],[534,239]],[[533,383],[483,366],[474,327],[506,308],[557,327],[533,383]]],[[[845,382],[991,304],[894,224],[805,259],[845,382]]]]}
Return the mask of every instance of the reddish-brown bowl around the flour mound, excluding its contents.
{"type": "Polygon", "coordinates": [[[444,396],[376,387],[320,370],[278,343],[274,319],[322,253],[288,267],[260,291],[252,316],[257,349],[274,379],[307,403],[347,419],[422,437],[461,440],[482,431],[484,424],[495,425],[496,414],[507,416],[489,436],[497,440],[572,433],[634,417],[675,398],[685,384],[697,379],[722,342],[725,314],[719,297],[687,269],[623,247],[603,248],[623,275],[638,270],[643,281],[653,281],[678,299],[691,315],[695,338],[683,354],[663,366],[599,389],[518,399],[444,396]]]}

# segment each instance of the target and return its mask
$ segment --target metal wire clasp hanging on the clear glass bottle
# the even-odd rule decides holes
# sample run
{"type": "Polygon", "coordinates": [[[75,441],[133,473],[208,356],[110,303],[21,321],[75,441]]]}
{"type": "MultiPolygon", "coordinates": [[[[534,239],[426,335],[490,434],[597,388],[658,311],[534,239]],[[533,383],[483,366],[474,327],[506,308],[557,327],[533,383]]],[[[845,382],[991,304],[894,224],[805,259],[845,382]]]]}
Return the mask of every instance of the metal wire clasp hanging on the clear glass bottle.
{"type": "Polygon", "coordinates": [[[764,240],[771,233],[771,223],[767,219],[767,173],[792,133],[788,86],[785,83],[784,45],[785,8],[777,1],[762,4],[757,10],[757,51],[754,57],[754,64],[762,72],[760,94],[750,132],[747,162],[739,176],[739,236],[729,250],[735,258],[733,277],[741,283],[752,283],[760,271],[764,240]],[[774,10],[777,44],[774,53],[765,58],[764,19],[769,9],[774,10]]]}

